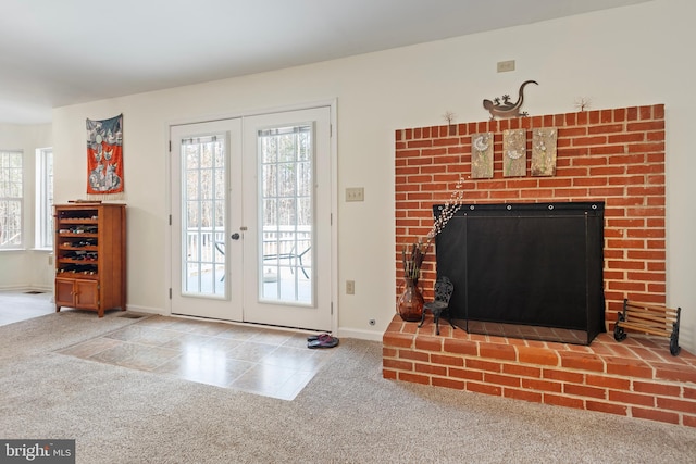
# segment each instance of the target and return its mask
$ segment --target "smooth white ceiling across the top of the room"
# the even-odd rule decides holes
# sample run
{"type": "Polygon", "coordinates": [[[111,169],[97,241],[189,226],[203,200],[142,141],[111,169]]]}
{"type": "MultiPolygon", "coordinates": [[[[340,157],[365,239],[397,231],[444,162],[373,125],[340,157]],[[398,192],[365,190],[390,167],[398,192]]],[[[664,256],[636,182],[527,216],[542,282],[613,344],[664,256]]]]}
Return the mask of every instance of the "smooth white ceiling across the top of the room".
{"type": "Polygon", "coordinates": [[[647,0],[2,0],[0,123],[647,0]]]}

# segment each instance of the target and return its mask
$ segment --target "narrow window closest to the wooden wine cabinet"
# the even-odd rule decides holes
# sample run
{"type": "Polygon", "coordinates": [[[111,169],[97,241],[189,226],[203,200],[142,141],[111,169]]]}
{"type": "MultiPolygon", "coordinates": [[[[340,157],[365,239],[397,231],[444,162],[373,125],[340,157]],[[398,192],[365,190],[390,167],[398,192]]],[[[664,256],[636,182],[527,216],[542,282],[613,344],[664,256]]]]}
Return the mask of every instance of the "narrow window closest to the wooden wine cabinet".
{"type": "Polygon", "coordinates": [[[36,150],[36,248],[53,247],[53,149],[36,150]]]}

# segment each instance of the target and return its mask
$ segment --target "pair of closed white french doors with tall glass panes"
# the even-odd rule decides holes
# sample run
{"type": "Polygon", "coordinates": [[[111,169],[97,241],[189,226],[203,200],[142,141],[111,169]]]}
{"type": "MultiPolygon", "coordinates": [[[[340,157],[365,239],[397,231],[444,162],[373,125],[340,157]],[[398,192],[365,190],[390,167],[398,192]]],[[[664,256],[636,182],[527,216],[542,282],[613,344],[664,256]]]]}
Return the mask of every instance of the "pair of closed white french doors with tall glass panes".
{"type": "Polygon", "coordinates": [[[172,126],[172,313],[331,329],[330,109],[172,126]]]}

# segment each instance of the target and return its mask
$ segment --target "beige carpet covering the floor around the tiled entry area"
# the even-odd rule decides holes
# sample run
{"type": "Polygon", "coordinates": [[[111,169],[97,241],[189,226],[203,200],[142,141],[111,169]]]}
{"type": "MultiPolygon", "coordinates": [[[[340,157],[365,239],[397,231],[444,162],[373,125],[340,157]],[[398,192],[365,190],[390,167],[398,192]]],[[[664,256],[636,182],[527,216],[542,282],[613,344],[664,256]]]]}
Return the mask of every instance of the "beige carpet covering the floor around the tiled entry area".
{"type": "Polygon", "coordinates": [[[382,378],[343,339],[294,401],[55,350],[138,319],[62,311],[0,327],[0,438],[74,438],[78,463],[687,463],[696,429],[382,378]]]}

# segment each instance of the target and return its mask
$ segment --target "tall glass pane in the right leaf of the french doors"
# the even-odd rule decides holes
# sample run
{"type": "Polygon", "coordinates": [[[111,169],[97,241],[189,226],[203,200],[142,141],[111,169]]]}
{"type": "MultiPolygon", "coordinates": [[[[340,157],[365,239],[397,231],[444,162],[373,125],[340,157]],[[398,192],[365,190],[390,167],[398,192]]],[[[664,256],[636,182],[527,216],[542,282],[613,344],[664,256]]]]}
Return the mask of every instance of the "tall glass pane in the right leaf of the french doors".
{"type": "Polygon", "coordinates": [[[258,131],[259,300],[313,304],[313,125],[258,131]]]}

